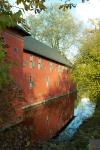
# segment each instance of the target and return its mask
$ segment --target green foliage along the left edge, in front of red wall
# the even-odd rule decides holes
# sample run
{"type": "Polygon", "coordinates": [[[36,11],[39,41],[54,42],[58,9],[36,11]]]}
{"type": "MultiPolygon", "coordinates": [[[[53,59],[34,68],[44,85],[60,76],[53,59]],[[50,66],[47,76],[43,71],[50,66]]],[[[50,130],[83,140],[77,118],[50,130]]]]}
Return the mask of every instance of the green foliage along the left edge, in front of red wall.
{"type": "Polygon", "coordinates": [[[11,4],[6,0],[0,1],[0,89],[9,83],[8,69],[11,63],[6,60],[6,45],[2,38],[1,32],[7,27],[16,26],[18,22],[22,21],[21,10],[12,12],[11,4]]]}

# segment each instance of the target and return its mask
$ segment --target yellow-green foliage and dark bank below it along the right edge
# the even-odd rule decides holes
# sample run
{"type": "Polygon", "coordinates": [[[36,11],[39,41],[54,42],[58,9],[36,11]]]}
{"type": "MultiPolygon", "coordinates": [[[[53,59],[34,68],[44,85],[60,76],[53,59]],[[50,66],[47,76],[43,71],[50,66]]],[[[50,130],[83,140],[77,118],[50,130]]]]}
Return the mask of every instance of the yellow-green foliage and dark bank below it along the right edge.
{"type": "Polygon", "coordinates": [[[94,115],[83,122],[74,137],[64,145],[68,150],[88,150],[89,140],[100,139],[100,21],[85,33],[73,68],[79,97],[96,103],[94,115]]]}

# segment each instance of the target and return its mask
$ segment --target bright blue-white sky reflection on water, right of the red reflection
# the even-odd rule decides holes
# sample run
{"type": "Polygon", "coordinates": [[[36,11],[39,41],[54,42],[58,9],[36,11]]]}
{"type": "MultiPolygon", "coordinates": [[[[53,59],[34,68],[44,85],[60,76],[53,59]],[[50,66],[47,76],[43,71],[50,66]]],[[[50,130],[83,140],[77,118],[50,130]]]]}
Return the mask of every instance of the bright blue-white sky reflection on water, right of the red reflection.
{"type": "Polygon", "coordinates": [[[56,141],[71,139],[84,120],[91,117],[94,113],[95,105],[88,98],[83,98],[75,108],[74,120],[58,135],[56,141]]]}

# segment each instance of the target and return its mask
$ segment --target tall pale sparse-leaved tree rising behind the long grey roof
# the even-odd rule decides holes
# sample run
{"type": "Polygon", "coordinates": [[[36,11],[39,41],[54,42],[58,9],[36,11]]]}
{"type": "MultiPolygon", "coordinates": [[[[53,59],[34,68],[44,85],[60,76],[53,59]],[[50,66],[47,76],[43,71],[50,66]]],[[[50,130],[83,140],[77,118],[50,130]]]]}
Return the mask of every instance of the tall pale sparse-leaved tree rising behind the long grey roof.
{"type": "Polygon", "coordinates": [[[59,4],[49,6],[38,16],[29,16],[28,23],[34,38],[59,50],[68,50],[77,43],[80,25],[70,12],[59,9],[59,4]]]}

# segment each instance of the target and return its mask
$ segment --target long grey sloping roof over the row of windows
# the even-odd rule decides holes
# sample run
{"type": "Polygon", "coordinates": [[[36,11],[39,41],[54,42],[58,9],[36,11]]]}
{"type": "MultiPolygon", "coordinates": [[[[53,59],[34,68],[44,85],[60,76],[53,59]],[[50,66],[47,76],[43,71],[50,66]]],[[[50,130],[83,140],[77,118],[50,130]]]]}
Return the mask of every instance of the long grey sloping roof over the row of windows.
{"type": "Polygon", "coordinates": [[[58,63],[70,67],[72,66],[70,61],[66,57],[64,57],[64,55],[61,55],[61,53],[57,49],[50,48],[40,41],[33,39],[31,36],[26,36],[24,38],[24,50],[43,56],[58,63]]]}

